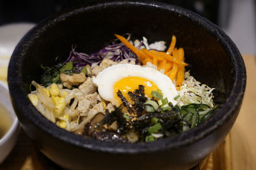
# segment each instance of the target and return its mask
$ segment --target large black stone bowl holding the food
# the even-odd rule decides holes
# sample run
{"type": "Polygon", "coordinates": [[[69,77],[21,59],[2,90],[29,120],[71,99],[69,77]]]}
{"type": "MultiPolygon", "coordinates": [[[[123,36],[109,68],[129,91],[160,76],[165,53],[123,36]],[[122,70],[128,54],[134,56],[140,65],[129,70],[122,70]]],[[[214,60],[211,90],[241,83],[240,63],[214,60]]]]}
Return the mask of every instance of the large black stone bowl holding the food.
{"type": "Polygon", "coordinates": [[[21,39],[8,69],[13,106],[22,128],[36,147],[67,169],[189,169],[212,152],[230,131],[246,85],[244,62],[221,29],[195,13],[163,3],[116,1],[61,13],[36,25],[21,39]],[[209,120],[175,138],[152,143],[106,143],[77,136],[52,124],[30,103],[32,80],[40,81],[41,64],[67,59],[71,46],[93,53],[113,34],[131,32],[149,42],[172,35],[183,47],[196,80],[216,88],[221,107],[209,120]],[[58,60],[56,60],[58,57],[58,60]]]}

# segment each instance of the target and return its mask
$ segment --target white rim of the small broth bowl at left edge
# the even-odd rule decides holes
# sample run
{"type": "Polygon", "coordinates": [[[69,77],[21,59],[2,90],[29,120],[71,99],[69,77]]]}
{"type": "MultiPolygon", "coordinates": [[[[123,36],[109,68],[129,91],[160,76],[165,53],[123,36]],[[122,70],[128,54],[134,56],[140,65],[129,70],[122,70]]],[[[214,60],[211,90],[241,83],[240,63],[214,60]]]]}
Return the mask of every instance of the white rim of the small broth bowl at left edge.
{"type": "MultiPolygon", "coordinates": [[[[9,93],[8,86],[6,84],[4,84],[3,81],[0,81],[0,88],[3,88],[4,90],[6,90],[9,93]]],[[[10,98],[6,98],[6,99],[10,101],[10,98]]],[[[11,101],[10,101],[10,104],[11,104],[11,101]]],[[[15,131],[17,130],[17,128],[19,126],[19,120],[18,120],[17,116],[15,115],[15,111],[13,110],[13,108],[9,108],[6,110],[8,111],[9,114],[11,114],[13,122],[12,122],[11,127],[6,132],[6,134],[4,134],[3,138],[0,139],[0,146],[2,146],[4,143],[6,143],[8,141],[8,139],[10,139],[12,137],[12,135],[15,133],[15,131]]]]}

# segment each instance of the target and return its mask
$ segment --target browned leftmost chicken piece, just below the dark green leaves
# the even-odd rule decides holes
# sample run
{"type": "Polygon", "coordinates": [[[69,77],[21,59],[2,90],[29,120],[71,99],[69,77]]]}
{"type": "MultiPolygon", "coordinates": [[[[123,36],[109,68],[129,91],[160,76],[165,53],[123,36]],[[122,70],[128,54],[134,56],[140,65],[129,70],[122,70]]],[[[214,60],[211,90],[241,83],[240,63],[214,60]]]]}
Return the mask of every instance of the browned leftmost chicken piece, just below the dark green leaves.
{"type": "Polygon", "coordinates": [[[83,83],[86,80],[86,76],[84,73],[79,74],[60,74],[60,80],[62,81],[63,85],[70,89],[72,85],[79,85],[80,83],[83,83]]]}

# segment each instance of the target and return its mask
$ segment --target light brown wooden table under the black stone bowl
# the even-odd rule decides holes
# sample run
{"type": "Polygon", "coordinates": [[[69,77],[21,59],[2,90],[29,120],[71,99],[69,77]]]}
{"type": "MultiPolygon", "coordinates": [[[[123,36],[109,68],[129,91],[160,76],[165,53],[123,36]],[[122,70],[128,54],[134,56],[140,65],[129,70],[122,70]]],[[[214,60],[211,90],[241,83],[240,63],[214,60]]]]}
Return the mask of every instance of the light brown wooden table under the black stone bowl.
{"type": "MultiPolygon", "coordinates": [[[[247,71],[247,84],[241,111],[230,134],[221,145],[200,164],[200,169],[256,169],[256,56],[243,55],[247,71]]],[[[44,169],[54,164],[38,153],[29,138],[20,131],[15,148],[0,165],[0,169],[44,169]],[[31,147],[32,146],[32,147],[31,147]],[[44,159],[42,161],[42,159],[44,159]]],[[[49,167],[47,169],[56,169],[49,167]]]]}

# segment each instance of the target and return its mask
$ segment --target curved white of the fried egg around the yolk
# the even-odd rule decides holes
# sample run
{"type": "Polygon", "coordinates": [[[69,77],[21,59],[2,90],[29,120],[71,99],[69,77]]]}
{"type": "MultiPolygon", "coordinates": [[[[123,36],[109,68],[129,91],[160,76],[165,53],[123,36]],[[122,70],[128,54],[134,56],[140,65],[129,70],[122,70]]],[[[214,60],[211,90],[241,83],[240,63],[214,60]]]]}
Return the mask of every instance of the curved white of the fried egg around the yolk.
{"type": "Polygon", "coordinates": [[[178,95],[178,92],[172,80],[152,67],[134,64],[116,64],[101,71],[93,78],[93,83],[97,85],[100,96],[106,101],[113,103],[113,86],[117,81],[128,76],[138,76],[153,81],[162,91],[163,97],[167,97],[168,101],[172,102],[173,106],[177,104],[174,97],[178,95]]]}

